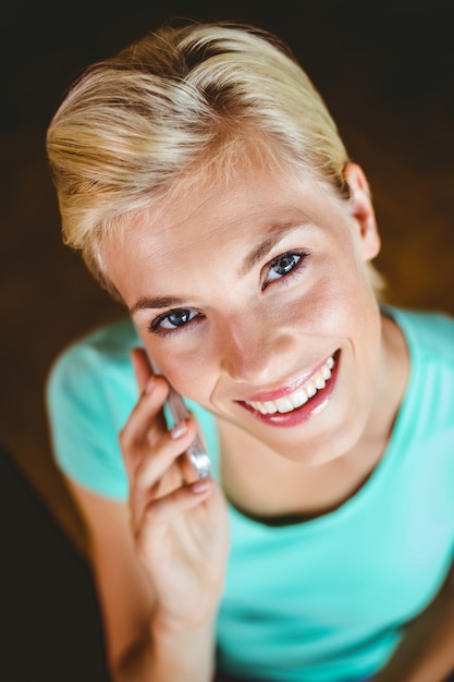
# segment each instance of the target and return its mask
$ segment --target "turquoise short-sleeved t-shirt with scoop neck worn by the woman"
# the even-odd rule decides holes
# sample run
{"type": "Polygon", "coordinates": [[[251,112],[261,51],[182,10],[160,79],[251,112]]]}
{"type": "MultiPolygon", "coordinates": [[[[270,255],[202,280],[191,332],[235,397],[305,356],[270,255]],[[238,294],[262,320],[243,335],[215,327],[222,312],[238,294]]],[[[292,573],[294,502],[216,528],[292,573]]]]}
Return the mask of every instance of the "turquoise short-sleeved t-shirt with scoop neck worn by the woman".
{"type": "MultiPolygon", "coordinates": [[[[231,550],[218,617],[222,670],[251,680],[356,682],[388,660],[402,626],[454,560],[454,320],[388,307],[410,377],[386,451],[338,510],[271,526],[229,506],[231,550]]],[[[118,433],[137,400],[130,320],[79,340],[48,382],[57,462],[85,487],[127,497],[118,433]]],[[[194,403],[214,471],[213,417],[194,403]]]]}

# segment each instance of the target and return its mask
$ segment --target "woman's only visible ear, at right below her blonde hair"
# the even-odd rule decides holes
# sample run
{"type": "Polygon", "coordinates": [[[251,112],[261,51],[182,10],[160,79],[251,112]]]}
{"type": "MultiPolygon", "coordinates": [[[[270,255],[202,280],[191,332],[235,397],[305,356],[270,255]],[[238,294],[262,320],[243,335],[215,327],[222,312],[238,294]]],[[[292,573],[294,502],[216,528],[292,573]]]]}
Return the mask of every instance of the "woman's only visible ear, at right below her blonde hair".
{"type": "Polygon", "coordinates": [[[347,165],[345,180],[349,187],[349,214],[358,227],[363,257],[371,260],[380,252],[380,235],[369,185],[363,169],[356,163],[347,165]]]}

